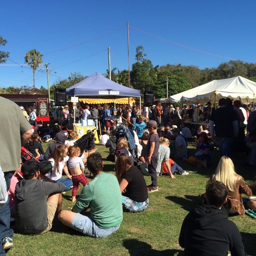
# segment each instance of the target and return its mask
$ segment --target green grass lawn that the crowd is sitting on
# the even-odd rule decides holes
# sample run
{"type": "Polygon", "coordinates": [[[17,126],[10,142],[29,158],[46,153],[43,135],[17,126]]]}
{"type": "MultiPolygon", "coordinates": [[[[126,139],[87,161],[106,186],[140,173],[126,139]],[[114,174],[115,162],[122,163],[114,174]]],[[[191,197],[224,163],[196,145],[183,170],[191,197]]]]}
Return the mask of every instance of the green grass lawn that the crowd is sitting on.
{"type": "MultiPolygon", "coordinates": [[[[43,143],[43,147],[46,149],[47,143],[43,143]]],[[[105,160],[108,149],[99,145],[97,148],[103,157],[104,171],[114,174],[113,163],[105,160]]],[[[193,155],[192,144],[189,148],[189,154],[193,155]]],[[[142,213],[123,213],[120,229],[107,238],[86,237],[57,221],[48,233],[40,236],[17,234],[15,230],[15,247],[7,256],[182,255],[183,249],[178,244],[181,224],[188,211],[198,203],[198,194],[205,191],[206,182],[217,166],[218,151],[212,151],[211,156],[213,165],[209,169],[176,175],[176,179],[158,177],[159,191],[149,193],[149,208],[142,213]]],[[[196,169],[182,160],[177,164],[186,171],[196,169]]],[[[242,160],[234,164],[245,182],[251,183],[255,171],[244,170],[242,160]]],[[[145,180],[150,183],[150,177],[145,180]]],[[[71,207],[71,191],[67,191],[63,194],[63,209],[71,207]]],[[[229,219],[238,226],[247,255],[256,256],[256,220],[247,215],[229,219]]]]}

